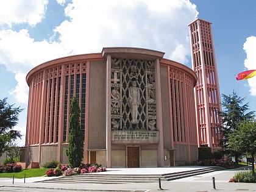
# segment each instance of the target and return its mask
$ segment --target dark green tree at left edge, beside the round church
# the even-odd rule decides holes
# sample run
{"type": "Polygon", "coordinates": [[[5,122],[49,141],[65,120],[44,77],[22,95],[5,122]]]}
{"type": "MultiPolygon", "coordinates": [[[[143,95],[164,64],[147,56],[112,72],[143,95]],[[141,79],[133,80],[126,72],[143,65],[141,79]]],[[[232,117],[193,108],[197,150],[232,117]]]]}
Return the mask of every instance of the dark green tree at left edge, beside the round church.
{"type": "Polygon", "coordinates": [[[7,98],[0,100],[0,157],[10,141],[21,138],[20,131],[13,130],[13,127],[18,124],[18,115],[22,111],[23,108],[9,105],[7,98]]]}

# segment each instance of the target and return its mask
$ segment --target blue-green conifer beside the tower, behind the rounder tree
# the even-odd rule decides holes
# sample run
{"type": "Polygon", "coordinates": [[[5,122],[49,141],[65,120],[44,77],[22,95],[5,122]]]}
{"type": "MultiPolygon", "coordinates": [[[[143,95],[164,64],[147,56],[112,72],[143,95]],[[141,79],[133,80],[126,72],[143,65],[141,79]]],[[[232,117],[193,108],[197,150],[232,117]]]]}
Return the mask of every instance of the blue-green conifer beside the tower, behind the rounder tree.
{"type": "MultiPolygon", "coordinates": [[[[219,140],[219,144],[222,150],[229,149],[229,134],[238,129],[238,124],[241,121],[251,121],[254,118],[254,111],[247,112],[249,110],[248,103],[243,104],[245,98],[240,98],[235,90],[232,94],[222,94],[222,112],[219,115],[222,117],[221,133],[222,139],[219,140]],[[247,112],[247,113],[246,113],[247,112]]],[[[238,163],[238,152],[235,152],[235,162],[238,163]]]]}

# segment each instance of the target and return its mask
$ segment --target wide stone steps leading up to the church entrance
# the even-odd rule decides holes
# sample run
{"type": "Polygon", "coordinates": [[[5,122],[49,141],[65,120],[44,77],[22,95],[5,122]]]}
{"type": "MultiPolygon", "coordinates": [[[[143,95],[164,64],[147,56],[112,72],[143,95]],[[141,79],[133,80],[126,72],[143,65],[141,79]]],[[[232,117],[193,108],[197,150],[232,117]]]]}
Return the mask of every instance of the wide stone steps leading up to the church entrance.
{"type": "Polygon", "coordinates": [[[77,174],[73,176],[63,176],[57,177],[55,179],[44,180],[41,182],[47,183],[142,183],[142,182],[158,182],[160,178],[161,181],[169,181],[182,179],[185,177],[197,176],[200,174],[205,174],[207,172],[220,171],[224,168],[220,167],[210,167],[210,168],[199,168],[190,171],[180,171],[171,172],[168,174],[77,174]]]}

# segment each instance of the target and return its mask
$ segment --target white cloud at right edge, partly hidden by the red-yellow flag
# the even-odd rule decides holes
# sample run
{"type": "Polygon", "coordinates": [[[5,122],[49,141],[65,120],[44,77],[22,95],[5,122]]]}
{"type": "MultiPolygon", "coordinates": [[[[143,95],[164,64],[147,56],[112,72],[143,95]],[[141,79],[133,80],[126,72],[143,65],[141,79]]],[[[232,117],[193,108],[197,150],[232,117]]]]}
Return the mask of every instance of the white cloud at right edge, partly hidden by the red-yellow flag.
{"type": "MultiPolygon", "coordinates": [[[[246,52],[246,59],[244,60],[244,66],[249,69],[256,69],[256,37],[251,36],[246,38],[244,43],[244,52],[246,52]]],[[[250,93],[256,96],[256,77],[248,79],[248,84],[250,87],[250,93]]]]}

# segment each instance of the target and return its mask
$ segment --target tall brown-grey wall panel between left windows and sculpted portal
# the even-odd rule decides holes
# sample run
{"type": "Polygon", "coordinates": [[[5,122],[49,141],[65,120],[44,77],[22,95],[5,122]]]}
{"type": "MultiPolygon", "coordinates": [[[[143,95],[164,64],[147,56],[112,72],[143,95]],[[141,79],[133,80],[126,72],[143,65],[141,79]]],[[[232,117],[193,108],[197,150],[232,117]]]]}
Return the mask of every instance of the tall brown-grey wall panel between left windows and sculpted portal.
{"type": "Polygon", "coordinates": [[[106,63],[90,62],[88,149],[106,148],[106,63]]]}

